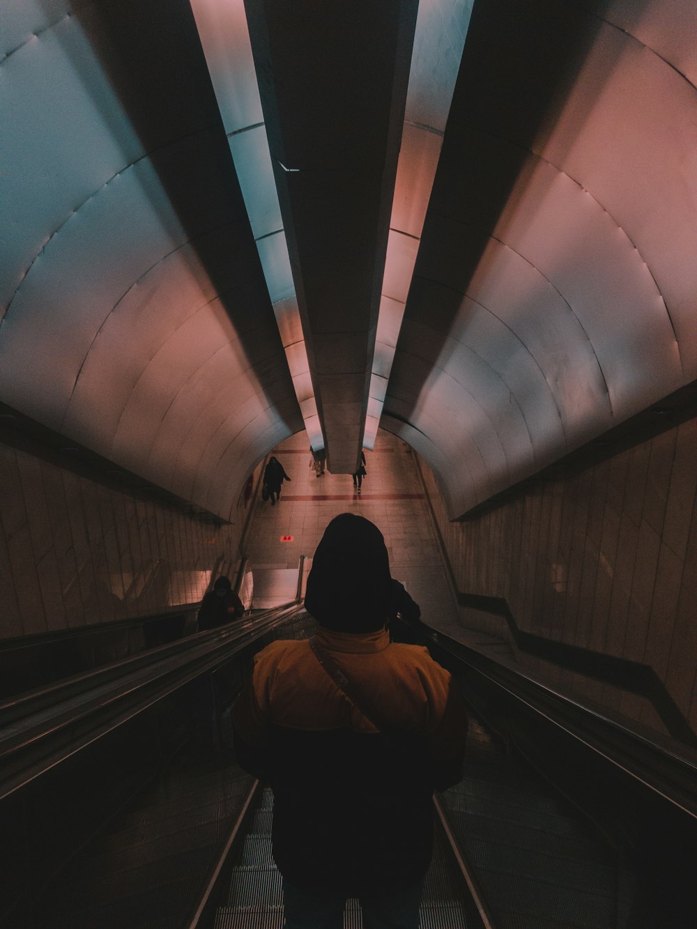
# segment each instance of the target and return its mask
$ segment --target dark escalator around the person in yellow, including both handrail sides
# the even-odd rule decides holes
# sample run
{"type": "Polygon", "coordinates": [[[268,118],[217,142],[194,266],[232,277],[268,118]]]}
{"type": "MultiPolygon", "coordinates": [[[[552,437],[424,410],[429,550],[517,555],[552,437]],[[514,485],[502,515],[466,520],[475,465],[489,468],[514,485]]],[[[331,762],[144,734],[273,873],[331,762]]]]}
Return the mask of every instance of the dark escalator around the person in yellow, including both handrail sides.
{"type": "MultiPolygon", "coordinates": [[[[41,764],[31,752],[13,762],[6,733],[1,757],[15,766],[0,805],[0,926],[281,927],[272,798],[235,765],[229,712],[256,649],[312,631],[296,604],[169,645],[145,667],[126,662],[111,684],[91,682],[88,705],[105,704],[91,729],[75,684],[64,744],[47,735],[41,764]]],[[[426,626],[418,634],[471,712],[466,777],[436,796],[422,929],[693,926],[694,753],[638,737],[426,626]]],[[[45,695],[34,716],[49,706],[45,695]]],[[[20,738],[17,713],[26,752],[38,729],[20,738]]],[[[362,926],[355,900],[345,926],[362,926]]]]}

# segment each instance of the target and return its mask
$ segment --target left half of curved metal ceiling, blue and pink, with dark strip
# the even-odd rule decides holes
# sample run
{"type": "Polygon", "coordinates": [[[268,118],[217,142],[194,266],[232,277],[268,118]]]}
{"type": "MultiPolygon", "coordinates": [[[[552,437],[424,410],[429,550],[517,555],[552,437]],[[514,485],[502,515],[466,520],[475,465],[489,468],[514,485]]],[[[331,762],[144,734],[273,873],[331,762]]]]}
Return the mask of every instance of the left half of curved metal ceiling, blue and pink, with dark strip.
{"type": "Polygon", "coordinates": [[[0,16],[2,399],[230,514],[302,418],[191,7],[0,16]]]}

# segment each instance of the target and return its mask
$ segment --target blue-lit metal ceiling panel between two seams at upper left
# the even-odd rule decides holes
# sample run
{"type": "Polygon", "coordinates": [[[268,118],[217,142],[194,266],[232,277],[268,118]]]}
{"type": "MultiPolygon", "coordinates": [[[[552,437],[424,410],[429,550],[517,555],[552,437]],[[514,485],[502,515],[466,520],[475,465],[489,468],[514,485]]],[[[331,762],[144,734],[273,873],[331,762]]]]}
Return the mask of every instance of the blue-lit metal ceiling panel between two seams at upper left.
{"type": "MultiPolygon", "coordinates": [[[[10,12],[0,13],[7,24],[10,12]]],[[[0,34],[5,21],[2,25],[0,34]]],[[[34,28],[36,36],[0,61],[7,165],[0,314],[57,231],[144,154],[78,21],[63,17],[43,32],[34,28]],[[81,61],[79,72],[75,59],[81,61]],[[118,133],[109,131],[113,119],[118,133]]]]}

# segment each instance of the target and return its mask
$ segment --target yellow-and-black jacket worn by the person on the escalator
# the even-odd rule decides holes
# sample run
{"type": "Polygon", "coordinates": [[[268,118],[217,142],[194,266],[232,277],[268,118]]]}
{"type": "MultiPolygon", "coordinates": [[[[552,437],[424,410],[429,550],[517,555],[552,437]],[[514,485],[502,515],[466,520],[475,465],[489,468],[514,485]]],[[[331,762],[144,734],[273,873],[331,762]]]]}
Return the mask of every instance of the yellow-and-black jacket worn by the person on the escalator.
{"type": "Polygon", "coordinates": [[[462,777],[467,714],[451,675],[382,629],[321,629],[319,642],[399,735],[381,734],[307,640],[256,655],[233,711],[240,763],[274,791],[273,854],[301,886],[348,893],[425,873],[430,796],[462,777]]]}

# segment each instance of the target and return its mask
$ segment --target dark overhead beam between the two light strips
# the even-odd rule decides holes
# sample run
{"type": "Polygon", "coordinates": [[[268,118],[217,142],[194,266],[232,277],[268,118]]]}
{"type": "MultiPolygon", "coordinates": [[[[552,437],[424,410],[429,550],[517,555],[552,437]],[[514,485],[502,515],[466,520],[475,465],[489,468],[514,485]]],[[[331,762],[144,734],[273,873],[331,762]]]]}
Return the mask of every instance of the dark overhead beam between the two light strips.
{"type": "Polygon", "coordinates": [[[417,0],[246,0],[333,473],[362,447],[417,0]]]}

